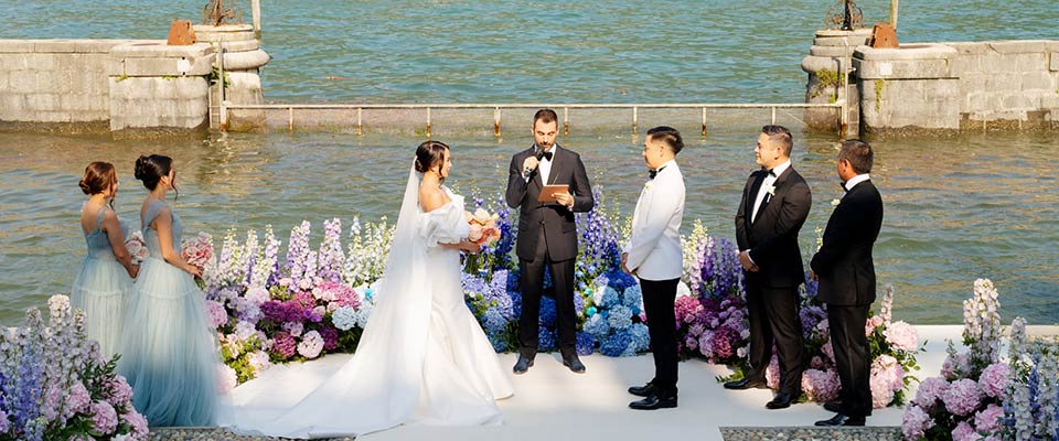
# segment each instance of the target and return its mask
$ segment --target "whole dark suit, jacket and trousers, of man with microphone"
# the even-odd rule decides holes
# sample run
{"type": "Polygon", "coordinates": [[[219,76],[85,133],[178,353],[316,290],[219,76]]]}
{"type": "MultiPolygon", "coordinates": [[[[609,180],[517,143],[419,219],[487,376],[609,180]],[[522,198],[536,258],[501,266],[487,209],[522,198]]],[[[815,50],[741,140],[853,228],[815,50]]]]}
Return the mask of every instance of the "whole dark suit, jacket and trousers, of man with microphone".
{"type": "Polygon", "coordinates": [[[537,353],[538,315],[544,269],[552,270],[555,286],[555,310],[558,340],[556,347],[564,356],[576,354],[574,311],[574,262],[577,258],[577,226],[574,213],[588,212],[596,205],[592,187],[585,172],[580,155],[553,146],[552,170],[547,184],[567,184],[574,195],[574,207],[568,209],[555,203],[537,202],[545,184],[539,166],[526,182],[523,162],[534,155],[536,147],[515,153],[511,158],[505,198],[512,208],[518,208],[518,255],[522,290],[522,316],[518,320],[518,352],[533,359],[537,353]]]}

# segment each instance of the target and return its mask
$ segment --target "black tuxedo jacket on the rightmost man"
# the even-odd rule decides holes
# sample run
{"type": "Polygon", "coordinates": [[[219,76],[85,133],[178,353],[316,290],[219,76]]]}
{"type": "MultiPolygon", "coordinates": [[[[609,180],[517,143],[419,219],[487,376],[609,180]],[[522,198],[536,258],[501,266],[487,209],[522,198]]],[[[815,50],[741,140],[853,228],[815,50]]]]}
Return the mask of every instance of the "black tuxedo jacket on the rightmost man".
{"type": "Polygon", "coordinates": [[[824,244],[810,266],[820,279],[816,297],[841,306],[875,301],[871,248],[882,227],[882,196],[871,181],[855,185],[827,220],[824,244]]]}

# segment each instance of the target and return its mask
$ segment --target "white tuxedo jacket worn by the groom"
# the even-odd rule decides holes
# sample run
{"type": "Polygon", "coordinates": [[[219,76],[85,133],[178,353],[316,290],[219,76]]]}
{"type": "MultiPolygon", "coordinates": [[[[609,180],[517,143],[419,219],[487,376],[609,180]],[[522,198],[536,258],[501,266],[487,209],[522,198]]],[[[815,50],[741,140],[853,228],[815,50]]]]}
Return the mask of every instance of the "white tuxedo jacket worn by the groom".
{"type": "Polygon", "coordinates": [[[684,218],[684,175],[676,161],[659,168],[643,184],[632,215],[632,236],[623,252],[625,266],[646,280],[678,279],[684,273],[681,220],[684,218]]]}

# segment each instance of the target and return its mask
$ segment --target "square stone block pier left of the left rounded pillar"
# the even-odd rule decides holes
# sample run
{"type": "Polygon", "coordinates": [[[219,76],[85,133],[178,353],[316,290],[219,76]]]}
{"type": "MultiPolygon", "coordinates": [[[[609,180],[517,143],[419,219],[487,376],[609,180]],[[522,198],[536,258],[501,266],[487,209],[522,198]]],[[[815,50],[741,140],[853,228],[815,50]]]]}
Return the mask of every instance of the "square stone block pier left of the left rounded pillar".
{"type": "Polygon", "coordinates": [[[208,44],[164,41],[110,50],[110,130],[116,138],[205,132],[210,126],[208,44]]]}

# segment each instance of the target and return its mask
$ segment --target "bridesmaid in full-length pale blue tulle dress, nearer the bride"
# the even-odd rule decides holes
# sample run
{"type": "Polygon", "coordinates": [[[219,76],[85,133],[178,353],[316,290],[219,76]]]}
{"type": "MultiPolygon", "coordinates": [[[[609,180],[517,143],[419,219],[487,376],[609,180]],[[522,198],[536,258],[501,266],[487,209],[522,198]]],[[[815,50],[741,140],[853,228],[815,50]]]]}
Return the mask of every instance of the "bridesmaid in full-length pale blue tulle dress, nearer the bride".
{"type": "Polygon", "coordinates": [[[221,364],[194,276],[202,269],[180,257],[183,226],[165,203],[175,190],[169,157],[136,160],[136,179],[150,190],[140,212],[150,256],[136,279],[118,372],[132,386],[132,405],[151,427],[202,427],[215,421],[221,364]]]}

